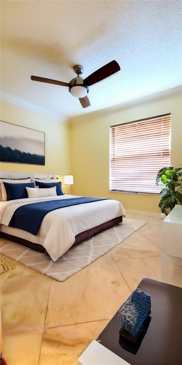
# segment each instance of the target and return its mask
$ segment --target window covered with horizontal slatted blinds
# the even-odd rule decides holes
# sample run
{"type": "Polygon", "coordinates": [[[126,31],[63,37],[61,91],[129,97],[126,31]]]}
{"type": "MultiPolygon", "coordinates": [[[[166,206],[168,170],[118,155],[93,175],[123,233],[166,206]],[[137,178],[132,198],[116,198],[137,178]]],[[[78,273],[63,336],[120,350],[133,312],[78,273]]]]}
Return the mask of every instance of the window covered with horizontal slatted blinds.
{"type": "Polygon", "coordinates": [[[110,191],[161,191],[156,177],[170,166],[170,130],[170,114],[110,127],[110,191]]]}

